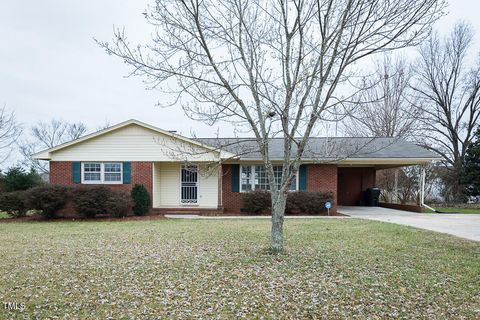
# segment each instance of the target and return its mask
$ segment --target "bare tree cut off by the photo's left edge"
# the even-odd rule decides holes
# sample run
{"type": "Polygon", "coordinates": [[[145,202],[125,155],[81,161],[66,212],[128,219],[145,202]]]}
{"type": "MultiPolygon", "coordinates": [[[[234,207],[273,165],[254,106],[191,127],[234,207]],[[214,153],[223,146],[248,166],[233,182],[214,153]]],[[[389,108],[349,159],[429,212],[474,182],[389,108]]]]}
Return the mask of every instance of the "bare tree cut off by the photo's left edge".
{"type": "Polygon", "coordinates": [[[0,109],[0,164],[8,159],[13,151],[13,145],[22,133],[22,127],[15,118],[13,111],[5,106],[0,109]]]}

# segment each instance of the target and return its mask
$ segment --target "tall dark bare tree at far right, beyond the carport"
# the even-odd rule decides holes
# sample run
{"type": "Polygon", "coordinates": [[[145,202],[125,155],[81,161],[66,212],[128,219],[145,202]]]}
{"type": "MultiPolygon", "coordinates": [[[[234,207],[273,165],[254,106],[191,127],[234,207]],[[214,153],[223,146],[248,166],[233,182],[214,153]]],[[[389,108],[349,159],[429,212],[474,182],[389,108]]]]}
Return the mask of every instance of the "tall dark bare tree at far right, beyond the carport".
{"type": "Polygon", "coordinates": [[[472,41],[473,32],[465,23],[455,25],[444,39],[433,34],[420,46],[418,79],[412,87],[423,114],[421,142],[443,158],[455,177],[452,192],[457,201],[463,198],[465,152],[480,119],[480,61],[467,63],[472,41]]]}

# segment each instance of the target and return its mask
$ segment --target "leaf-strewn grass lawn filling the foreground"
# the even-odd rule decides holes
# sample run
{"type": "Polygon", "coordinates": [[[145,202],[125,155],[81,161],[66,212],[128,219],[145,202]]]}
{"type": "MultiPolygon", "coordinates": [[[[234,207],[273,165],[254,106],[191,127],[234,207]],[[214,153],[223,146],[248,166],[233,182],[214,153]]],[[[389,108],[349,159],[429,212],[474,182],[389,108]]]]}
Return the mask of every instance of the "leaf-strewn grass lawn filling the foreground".
{"type": "Polygon", "coordinates": [[[479,318],[480,243],[394,224],[0,223],[0,318],[479,318]]]}

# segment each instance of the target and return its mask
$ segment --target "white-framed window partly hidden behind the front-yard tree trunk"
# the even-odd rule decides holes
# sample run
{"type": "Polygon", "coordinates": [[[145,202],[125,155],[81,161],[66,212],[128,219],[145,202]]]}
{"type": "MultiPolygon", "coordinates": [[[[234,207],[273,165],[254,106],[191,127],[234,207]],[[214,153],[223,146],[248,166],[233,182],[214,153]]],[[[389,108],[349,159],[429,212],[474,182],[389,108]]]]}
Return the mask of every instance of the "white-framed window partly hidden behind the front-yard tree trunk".
{"type": "MultiPolygon", "coordinates": [[[[273,166],[273,175],[275,177],[275,183],[277,186],[280,186],[282,182],[283,167],[282,166],[273,166]]],[[[263,165],[253,165],[253,166],[240,166],[240,190],[251,191],[251,190],[269,190],[268,185],[268,176],[263,165]]],[[[290,185],[290,191],[297,190],[297,177],[293,178],[292,184],[290,185]]]]}

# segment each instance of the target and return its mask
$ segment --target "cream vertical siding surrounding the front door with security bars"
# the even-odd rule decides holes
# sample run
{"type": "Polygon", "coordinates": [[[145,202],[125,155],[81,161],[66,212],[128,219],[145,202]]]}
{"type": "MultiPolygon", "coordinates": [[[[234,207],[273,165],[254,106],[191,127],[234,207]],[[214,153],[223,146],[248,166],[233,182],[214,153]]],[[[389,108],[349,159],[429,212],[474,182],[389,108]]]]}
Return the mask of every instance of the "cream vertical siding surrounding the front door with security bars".
{"type": "MultiPolygon", "coordinates": [[[[189,207],[182,204],[180,194],[180,163],[155,162],[153,165],[153,206],[155,208],[189,207]]],[[[199,164],[198,202],[195,208],[218,207],[218,172],[206,173],[206,165],[199,164]]]]}

